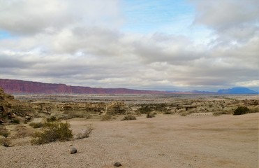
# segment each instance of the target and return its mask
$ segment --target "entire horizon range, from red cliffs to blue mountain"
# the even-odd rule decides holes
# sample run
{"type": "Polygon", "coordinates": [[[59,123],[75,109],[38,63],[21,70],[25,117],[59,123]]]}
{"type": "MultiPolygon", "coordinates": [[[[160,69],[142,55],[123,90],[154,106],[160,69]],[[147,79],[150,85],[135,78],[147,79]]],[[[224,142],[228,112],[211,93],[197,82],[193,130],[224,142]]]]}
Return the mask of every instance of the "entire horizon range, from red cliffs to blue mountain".
{"type": "Polygon", "coordinates": [[[131,90],[126,88],[96,88],[25,80],[0,79],[0,87],[9,94],[258,94],[246,87],[234,87],[218,92],[193,90],[190,92],[131,90]]]}

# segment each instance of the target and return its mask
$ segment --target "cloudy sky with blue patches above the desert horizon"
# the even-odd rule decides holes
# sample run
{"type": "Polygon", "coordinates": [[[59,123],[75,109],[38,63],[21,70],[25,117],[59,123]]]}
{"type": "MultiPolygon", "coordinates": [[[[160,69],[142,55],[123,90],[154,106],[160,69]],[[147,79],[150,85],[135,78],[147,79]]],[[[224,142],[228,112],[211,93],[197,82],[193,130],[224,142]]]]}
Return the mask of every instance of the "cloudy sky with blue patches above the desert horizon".
{"type": "Polygon", "coordinates": [[[258,90],[258,59],[258,0],[0,0],[0,78],[258,90]]]}

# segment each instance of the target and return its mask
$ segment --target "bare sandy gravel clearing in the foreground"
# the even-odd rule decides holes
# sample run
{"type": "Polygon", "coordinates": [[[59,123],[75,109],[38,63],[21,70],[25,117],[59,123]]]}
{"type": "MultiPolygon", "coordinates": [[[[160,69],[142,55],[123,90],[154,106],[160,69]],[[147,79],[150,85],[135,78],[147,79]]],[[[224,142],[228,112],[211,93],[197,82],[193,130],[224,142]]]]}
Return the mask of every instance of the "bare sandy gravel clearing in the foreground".
{"type": "Polygon", "coordinates": [[[0,167],[250,167],[258,168],[259,113],[242,116],[140,116],[131,121],[74,119],[89,138],[0,148],[0,167]],[[77,153],[69,153],[70,146],[77,153]]]}

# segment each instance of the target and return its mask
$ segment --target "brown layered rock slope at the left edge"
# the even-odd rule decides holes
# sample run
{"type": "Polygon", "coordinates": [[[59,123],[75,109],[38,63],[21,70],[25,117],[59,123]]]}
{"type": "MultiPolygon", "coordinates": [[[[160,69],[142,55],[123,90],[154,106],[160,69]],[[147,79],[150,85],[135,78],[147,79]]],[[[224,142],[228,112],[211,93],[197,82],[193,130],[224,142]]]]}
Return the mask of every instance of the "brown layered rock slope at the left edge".
{"type": "Polygon", "coordinates": [[[13,95],[6,94],[0,87],[0,123],[8,123],[17,117],[29,120],[33,116],[34,110],[30,106],[22,104],[13,95]]]}

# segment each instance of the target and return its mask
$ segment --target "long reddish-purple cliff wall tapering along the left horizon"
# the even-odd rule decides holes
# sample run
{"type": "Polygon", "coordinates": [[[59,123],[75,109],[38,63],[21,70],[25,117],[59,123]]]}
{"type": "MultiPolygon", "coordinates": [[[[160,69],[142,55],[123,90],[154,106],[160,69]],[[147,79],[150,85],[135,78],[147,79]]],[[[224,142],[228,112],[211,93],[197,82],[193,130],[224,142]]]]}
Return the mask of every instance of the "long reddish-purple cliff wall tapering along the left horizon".
{"type": "Polygon", "coordinates": [[[9,94],[165,94],[163,91],[131,90],[124,88],[95,88],[65,84],[39,83],[24,80],[0,79],[0,87],[9,94]]]}

